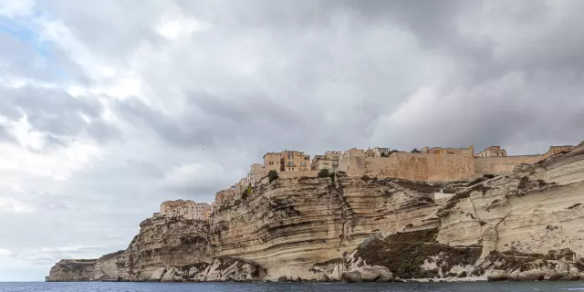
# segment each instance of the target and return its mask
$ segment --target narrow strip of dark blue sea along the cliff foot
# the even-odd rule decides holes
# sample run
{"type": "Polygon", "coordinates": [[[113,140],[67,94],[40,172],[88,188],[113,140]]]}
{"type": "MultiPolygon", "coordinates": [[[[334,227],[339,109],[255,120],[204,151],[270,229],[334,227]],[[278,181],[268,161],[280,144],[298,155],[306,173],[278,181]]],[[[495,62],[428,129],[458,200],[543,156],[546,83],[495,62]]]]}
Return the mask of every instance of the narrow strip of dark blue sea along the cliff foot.
{"type": "Polygon", "coordinates": [[[284,283],[0,283],[0,292],[533,292],[584,291],[584,282],[463,282],[463,283],[363,283],[363,284],[284,284],[284,283]]]}

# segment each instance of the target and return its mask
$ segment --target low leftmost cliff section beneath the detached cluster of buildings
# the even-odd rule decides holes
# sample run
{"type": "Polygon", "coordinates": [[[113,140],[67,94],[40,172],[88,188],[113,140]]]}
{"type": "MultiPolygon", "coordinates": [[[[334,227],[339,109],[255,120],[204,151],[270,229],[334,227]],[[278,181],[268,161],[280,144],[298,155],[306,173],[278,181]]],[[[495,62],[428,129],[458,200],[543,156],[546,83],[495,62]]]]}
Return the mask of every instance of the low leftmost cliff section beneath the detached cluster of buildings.
{"type": "Polygon", "coordinates": [[[63,260],[51,268],[49,281],[149,280],[165,266],[209,261],[204,221],[148,218],[128,248],[95,260],[63,260]]]}

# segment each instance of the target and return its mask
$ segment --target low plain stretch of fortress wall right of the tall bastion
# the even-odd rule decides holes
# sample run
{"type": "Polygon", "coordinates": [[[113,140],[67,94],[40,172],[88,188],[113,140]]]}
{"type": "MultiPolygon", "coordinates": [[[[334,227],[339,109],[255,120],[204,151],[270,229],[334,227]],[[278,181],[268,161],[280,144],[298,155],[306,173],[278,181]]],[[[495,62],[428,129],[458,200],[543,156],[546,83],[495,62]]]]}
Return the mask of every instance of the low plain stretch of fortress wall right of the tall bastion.
{"type": "Polygon", "coordinates": [[[533,164],[543,159],[543,155],[522,155],[506,157],[477,157],[474,163],[476,174],[507,174],[521,163],[533,164]]]}

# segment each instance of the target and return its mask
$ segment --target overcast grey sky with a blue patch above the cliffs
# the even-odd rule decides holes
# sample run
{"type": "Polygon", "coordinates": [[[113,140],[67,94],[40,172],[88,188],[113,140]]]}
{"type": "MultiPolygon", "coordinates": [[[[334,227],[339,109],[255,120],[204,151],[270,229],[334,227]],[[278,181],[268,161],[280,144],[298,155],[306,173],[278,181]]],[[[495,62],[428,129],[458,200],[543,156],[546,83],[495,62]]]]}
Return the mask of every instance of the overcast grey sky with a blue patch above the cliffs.
{"type": "Polygon", "coordinates": [[[267,151],[584,139],[584,1],[0,0],[0,281],[267,151]]]}

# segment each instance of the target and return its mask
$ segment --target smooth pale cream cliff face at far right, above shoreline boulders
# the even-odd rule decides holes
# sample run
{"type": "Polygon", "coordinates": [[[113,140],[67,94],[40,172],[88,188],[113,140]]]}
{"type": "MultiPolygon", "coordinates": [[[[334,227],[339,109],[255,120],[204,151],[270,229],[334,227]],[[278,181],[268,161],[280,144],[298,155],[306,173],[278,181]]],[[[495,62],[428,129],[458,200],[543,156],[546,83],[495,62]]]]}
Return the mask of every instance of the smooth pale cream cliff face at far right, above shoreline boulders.
{"type": "Polygon", "coordinates": [[[582,156],[566,154],[565,160],[543,162],[525,176],[497,176],[471,188],[467,197],[440,211],[437,240],[446,245],[482,244],[484,254],[546,254],[570,248],[583,255],[582,156]]]}

